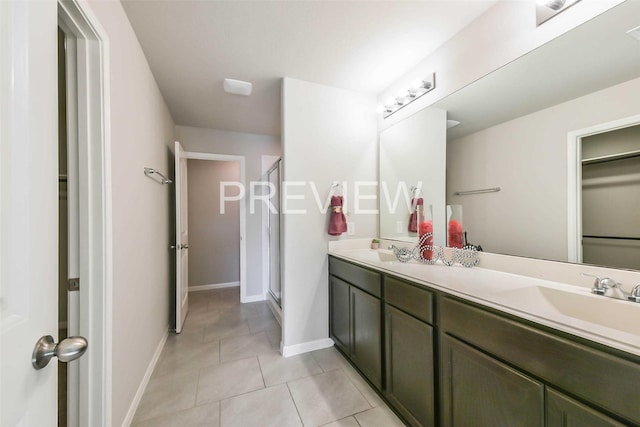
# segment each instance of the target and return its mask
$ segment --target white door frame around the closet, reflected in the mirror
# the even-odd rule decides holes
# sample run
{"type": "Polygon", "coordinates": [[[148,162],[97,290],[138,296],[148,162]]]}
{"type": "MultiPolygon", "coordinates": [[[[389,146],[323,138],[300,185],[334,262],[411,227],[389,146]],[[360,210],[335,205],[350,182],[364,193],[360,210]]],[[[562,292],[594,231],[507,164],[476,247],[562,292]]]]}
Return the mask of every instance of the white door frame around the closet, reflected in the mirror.
{"type": "Polygon", "coordinates": [[[582,138],[640,124],[640,115],[567,134],[567,261],[582,263],[582,138]]]}

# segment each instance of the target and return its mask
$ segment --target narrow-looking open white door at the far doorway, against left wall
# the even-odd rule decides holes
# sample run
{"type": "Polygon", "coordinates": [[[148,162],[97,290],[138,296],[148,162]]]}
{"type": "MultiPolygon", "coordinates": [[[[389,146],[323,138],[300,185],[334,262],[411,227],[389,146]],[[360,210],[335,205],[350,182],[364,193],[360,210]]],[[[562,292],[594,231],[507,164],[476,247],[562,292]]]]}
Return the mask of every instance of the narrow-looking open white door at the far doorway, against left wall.
{"type": "Polygon", "coordinates": [[[187,216],[187,158],[180,145],[175,143],[176,188],[176,333],[182,332],[189,310],[189,228],[187,216]]]}

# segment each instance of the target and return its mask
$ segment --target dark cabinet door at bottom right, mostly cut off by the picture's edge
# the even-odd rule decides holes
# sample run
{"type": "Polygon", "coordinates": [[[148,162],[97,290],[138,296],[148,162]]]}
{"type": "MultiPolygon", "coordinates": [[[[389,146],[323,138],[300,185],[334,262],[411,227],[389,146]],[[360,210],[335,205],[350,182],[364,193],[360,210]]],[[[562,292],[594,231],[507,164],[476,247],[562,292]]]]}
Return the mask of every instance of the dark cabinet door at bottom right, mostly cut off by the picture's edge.
{"type": "Polygon", "coordinates": [[[623,424],[555,390],[547,389],[547,426],[621,427],[623,424]]]}

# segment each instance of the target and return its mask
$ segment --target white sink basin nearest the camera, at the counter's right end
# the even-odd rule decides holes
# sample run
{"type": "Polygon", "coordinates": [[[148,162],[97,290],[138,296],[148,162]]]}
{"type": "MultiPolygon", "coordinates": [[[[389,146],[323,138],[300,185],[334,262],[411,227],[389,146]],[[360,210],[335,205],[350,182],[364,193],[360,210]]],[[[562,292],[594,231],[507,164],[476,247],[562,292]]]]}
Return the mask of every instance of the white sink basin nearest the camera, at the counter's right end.
{"type": "Polygon", "coordinates": [[[495,302],[517,310],[555,312],[567,317],[640,335],[640,304],[593,295],[587,289],[530,286],[491,294],[495,302]]]}

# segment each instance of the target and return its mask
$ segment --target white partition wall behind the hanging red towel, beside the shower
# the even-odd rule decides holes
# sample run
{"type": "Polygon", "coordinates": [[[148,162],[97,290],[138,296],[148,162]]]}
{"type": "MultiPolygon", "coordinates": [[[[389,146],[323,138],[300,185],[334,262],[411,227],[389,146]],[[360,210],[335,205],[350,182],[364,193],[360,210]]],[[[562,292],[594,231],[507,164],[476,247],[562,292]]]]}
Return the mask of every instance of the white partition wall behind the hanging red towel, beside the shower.
{"type": "MultiPolygon", "coordinates": [[[[375,96],[308,83],[291,78],[283,82],[284,179],[302,182],[290,187],[284,212],[283,352],[285,355],[326,345],[328,331],[327,234],[328,214],[319,211],[310,187],[316,185],[322,201],[333,181],[348,183],[347,221],[355,234],[376,236],[377,214],[355,213],[355,181],[378,179],[375,96]],[[294,199],[294,197],[304,197],[294,199]]],[[[376,195],[376,187],[363,194],[376,195]]],[[[284,197],[284,194],[283,194],[284,197]]],[[[375,200],[361,208],[377,209],[375,200]]]]}

